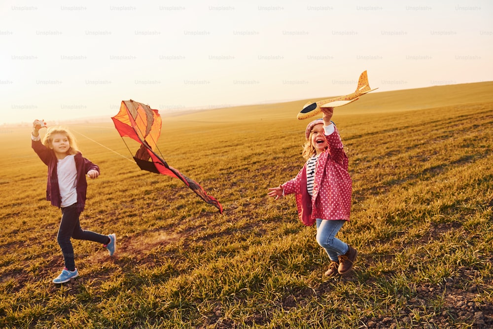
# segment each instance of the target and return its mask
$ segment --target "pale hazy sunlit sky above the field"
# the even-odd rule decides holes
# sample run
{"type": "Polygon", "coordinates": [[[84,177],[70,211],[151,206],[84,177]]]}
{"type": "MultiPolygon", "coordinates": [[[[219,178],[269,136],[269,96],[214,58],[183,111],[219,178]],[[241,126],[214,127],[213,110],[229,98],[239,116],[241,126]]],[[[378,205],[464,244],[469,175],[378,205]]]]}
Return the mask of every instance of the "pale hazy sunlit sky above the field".
{"type": "Polygon", "coordinates": [[[493,1],[0,3],[0,124],[493,80],[493,1]]]}

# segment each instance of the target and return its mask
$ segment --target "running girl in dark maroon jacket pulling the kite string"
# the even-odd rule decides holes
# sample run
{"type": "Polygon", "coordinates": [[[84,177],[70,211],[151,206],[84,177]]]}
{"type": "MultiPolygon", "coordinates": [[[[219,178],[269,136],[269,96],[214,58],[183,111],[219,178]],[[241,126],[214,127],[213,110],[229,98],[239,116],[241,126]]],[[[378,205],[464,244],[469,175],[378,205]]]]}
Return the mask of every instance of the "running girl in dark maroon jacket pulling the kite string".
{"type": "Polygon", "coordinates": [[[39,129],[43,127],[40,121],[35,120],[31,139],[36,154],[48,166],[46,200],[62,210],[57,241],[62,249],[65,268],[53,280],[53,283],[60,284],[79,275],[75,268],[70,238],[102,243],[108,249],[109,256],[113,256],[116,236],[81,229],[79,216],[84,210],[86,201],[86,175],[91,179],[97,178],[100,174],[99,167],[82,157],[75,146],[73,136],[66,129],[49,128],[41,143],[39,129]]]}

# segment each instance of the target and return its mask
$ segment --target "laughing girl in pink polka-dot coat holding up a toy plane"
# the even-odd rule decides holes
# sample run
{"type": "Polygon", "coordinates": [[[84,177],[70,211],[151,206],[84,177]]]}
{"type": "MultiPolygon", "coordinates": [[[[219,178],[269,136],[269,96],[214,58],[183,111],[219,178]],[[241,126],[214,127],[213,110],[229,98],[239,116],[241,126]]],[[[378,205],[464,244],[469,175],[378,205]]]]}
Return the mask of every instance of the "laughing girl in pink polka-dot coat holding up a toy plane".
{"type": "Polygon", "coordinates": [[[333,276],[349,272],[358,252],[335,237],[349,221],[352,181],[341,137],[330,121],[334,109],[321,110],[323,119],[310,122],[305,132],[307,162],[294,179],[269,188],[268,195],[276,200],[296,195],[299,219],[305,225],[317,223],[317,243],[331,260],[325,275],[333,276]]]}

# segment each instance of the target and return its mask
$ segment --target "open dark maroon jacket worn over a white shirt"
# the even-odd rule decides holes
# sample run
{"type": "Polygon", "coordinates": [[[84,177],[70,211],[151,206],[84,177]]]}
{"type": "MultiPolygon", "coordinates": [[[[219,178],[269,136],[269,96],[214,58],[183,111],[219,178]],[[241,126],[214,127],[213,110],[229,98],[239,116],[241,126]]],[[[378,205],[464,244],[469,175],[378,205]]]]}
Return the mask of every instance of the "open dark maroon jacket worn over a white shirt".
{"type": "MultiPolygon", "coordinates": [[[[37,156],[48,166],[48,183],[46,184],[46,200],[51,201],[53,206],[60,208],[62,199],[60,197],[60,189],[58,187],[57,165],[58,159],[53,150],[44,146],[41,141],[33,141],[32,146],[37,156]]],[[[78,152],[74,155],[75,169],[77,170],[77,185],[75,190],[77,191],[77,208],[79,212],[84,210],[86,203],[86,191],[87,181],[86,174],[90,170],[97,170],[100,172],[99,167],[82,157],[82,153],[78,152]]]]}

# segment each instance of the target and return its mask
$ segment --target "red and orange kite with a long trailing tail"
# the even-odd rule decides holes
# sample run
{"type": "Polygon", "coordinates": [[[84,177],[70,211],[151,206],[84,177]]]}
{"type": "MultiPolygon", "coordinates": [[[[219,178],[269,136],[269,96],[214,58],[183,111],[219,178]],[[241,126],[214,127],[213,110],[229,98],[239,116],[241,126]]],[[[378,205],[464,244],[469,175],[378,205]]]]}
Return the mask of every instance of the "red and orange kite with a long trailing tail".
{"type": "MultiPolygon", "coordinates": [[[[207,195],[202,186],[169,166],[156,153],[156,142],[161,134],[161,116],[158,110],[153,110],[148,105],[133,100],[122,101],[120,111],[111,119],[122,139],[123,137],[129,137],[141,144],[135,156],[133,156],[141,170],[178,178],[197,193],[202,200],[216,207],[219,213],[222,214],[221,204],[207,195]]],[[[125,143],[125,140],[123,142],[125,143]]],[[[125,145],[128,148],[127,143],[125,145]]]]}

